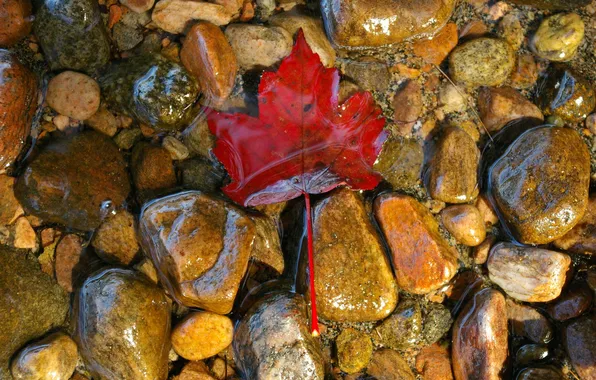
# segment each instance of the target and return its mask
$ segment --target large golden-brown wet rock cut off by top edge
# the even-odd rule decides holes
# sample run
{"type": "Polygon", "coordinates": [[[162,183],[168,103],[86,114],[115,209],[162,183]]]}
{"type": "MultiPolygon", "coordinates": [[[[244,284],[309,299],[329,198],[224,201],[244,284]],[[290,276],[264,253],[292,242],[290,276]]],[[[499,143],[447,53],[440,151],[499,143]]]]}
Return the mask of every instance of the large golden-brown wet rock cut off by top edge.
{"type": "Polygon", "coordinates": [[[323,0],[321,10],[327,35],[347,48],[394,44],[429,37],[446,23],[452,0],[323,0]]]}

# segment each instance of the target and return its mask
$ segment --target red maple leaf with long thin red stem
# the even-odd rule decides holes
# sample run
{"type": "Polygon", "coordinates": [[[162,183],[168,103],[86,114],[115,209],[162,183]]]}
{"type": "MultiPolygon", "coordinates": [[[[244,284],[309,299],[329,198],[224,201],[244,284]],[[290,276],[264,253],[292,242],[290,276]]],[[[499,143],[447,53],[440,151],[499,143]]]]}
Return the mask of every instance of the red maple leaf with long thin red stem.
{"type": "Polygon", "coordinates": [[[325,68],[298,32],[292,53],[259,83],[259,117],[211,112],[213,150],[232,181],[223,191],[244,206],[306,199],[312,330],[318,334],[309,194],[340,185],[373,189],[372,166],[387,133],[369,92],[338,104],[339,71],[325,68]]]}

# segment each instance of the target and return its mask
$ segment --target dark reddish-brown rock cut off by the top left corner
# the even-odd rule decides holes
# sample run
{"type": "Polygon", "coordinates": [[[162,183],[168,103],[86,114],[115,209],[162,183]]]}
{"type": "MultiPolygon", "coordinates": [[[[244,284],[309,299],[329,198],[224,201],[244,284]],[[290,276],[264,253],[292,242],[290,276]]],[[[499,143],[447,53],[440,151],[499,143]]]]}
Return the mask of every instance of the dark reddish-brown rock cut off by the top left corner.
{"type": "Polygon", "coordinates": [[[31,33],[30,0],[0,0],[0,46],[16,44],[31,33]]]}

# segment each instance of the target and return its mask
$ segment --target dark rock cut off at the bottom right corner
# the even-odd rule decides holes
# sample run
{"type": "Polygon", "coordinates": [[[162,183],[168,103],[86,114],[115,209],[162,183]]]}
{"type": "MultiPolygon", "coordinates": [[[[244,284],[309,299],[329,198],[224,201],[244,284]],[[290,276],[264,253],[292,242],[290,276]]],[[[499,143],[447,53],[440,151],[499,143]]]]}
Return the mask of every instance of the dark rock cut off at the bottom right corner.
{"type": "Polygon", "coordinates": [[[576,319],[563,331],[563,345],[581,379],[596,378],[596,317],[576,319]]]}

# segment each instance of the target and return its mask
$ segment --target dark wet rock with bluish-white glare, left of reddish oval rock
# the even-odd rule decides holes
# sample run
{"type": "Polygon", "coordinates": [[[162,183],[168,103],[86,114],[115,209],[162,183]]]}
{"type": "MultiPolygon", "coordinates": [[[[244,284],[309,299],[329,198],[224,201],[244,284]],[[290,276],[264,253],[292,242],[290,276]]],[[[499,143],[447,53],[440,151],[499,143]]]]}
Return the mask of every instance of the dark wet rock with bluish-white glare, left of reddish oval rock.
{"type": "Polygon", "coordinates": [[[184,67],[158,55],[113,62],[99,85],[114,110],[166,130],[188,124],[199,95],[197,82],[184,67]]]}

